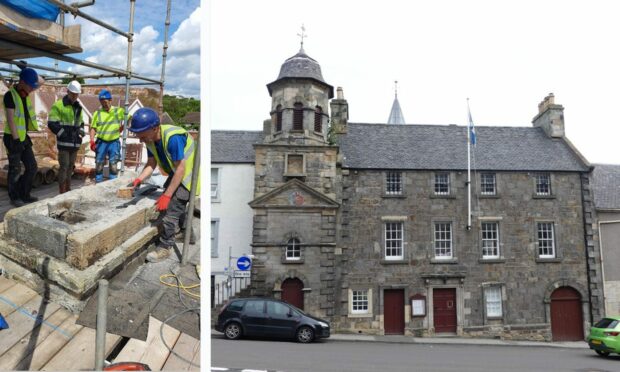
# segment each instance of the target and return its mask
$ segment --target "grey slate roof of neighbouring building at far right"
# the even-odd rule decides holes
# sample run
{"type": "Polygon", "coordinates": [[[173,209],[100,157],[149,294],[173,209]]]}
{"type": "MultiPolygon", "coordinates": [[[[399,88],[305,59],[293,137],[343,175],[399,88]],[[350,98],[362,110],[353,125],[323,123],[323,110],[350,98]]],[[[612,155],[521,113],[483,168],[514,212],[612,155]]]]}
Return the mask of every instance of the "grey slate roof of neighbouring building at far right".
{"type": "Polygon", "coordinates": [[[620,209],[620,165],[593,164],[592,194],[596,209],[620,209]]]}

